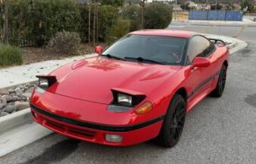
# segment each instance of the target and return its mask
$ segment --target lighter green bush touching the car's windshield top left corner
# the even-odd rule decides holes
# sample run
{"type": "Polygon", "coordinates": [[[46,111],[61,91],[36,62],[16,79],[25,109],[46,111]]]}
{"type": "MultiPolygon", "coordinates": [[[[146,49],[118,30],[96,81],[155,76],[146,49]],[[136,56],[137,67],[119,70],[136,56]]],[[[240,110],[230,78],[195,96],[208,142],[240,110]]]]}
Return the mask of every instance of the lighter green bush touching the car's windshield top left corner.
{"type": "Polygon", "coordinates": [[[108,29],[107,42],[112,43],[130,31],[130,21],[118,18],[117,22],[108,29]]]}

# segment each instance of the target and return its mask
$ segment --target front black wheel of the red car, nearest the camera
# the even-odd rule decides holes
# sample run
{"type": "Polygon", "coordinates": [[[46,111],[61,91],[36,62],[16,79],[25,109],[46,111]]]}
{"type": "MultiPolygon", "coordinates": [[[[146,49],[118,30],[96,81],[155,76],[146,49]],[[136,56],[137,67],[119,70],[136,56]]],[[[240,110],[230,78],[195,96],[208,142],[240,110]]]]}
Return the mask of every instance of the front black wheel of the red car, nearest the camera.
{"type": "Polygon", "coordinates": [[[185,117],[186,101],[180,94],[174,94],[156,142],[163,147],[175,146],[183,132],[185,117]]]}

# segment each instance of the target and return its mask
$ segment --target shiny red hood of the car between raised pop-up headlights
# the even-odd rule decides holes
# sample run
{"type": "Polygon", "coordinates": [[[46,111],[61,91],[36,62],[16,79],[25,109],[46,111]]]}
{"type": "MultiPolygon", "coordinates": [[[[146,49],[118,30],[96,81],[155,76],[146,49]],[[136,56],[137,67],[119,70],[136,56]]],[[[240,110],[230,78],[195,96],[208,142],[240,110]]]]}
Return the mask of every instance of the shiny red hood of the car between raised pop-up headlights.
{"type": "Polygon", "coordinates": [[[111,88],[150,93],[180,66],[92,57],[67,64],[53,73],[57,81],[48,91],[84,101],[110,104],[111,88]]]}

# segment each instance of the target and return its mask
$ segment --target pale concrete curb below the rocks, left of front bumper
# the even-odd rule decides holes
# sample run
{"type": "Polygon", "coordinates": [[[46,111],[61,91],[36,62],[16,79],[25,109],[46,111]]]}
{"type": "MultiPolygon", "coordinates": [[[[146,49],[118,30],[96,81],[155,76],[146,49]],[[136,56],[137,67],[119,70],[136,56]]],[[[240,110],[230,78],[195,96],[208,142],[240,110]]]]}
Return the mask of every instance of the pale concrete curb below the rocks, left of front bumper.
{"type": "Polygon", "coordinates": [[[31,117],[30,108],[20,110],[8,116],[3,116],[0,119],[0,135],[12,128],[17,128],[20,125],[33,122],[31,117]]]}

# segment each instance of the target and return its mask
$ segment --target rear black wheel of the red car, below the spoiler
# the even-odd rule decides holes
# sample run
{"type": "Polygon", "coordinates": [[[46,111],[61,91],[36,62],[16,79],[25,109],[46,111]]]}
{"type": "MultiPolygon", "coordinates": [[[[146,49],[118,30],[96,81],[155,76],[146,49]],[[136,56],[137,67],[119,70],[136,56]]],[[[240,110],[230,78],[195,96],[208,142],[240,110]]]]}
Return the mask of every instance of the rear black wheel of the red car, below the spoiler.
{"type": "Polygon", "coordinates": [[[226,85],[226,66],[223,64],[221,70],[220,70],[220,75],[219,79],[217,82],[217,86],[214,89],[214,91],[211,91],[211,96],[212,97],[221,97],[226,85]]]}

